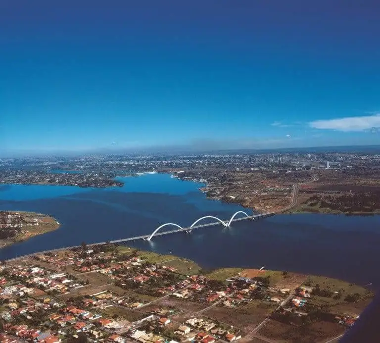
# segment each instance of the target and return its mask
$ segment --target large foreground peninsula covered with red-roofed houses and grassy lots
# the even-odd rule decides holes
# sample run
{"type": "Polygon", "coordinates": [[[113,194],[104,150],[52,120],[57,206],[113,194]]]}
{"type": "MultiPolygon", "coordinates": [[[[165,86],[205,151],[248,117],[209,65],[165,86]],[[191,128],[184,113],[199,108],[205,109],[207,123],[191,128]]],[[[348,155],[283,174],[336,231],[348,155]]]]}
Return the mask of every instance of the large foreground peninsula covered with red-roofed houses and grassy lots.
{"type": "Polygon", "coordinates": [[[46,342],[330,342],[373,298],[323,276],[205,270],[114,244],[6,261],[0,284],[4,335],[46,342]]]}

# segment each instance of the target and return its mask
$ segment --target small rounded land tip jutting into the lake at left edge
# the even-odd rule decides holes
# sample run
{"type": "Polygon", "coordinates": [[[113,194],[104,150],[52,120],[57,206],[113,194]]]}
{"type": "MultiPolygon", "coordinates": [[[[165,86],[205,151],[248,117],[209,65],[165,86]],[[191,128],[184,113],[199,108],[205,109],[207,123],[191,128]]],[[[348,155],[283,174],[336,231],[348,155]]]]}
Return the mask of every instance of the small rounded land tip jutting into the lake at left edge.
{"type": "Polygon", "coordinates": [[[59,223],[45,214],[0,211],[0,248],[58,228],[59,223]]]}

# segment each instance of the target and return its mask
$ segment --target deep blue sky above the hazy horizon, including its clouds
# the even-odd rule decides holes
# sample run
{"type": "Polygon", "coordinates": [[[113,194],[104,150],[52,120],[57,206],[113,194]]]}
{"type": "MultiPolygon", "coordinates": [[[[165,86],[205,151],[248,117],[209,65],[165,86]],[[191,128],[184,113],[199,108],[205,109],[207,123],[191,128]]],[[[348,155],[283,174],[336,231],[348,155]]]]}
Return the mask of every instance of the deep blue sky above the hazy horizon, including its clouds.
{"type": "Polygon", "coordinates": [[[379,18],[376,0],[2,0],[0,154],[380,144],[379,18]]]}

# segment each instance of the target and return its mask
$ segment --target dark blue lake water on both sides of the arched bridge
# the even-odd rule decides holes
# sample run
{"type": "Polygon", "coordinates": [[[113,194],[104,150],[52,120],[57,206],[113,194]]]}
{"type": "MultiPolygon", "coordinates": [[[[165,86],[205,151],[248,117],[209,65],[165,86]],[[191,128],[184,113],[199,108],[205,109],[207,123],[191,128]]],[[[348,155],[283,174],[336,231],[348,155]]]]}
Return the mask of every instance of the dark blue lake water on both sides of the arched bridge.
{"type": "MultiPolygon", "coordinates": [[[[189,226],[213,215],[229,219],[237,204],[207,199],[201,184],[153,174],[119,178],[123,187],[0,186],[0,209],[53,215],[61,227],[0,250],[0,259],[41,250],[150,234],[163,223],[189,226]]],[[[205,221],[206,222],[206,221],[205,221]]],[[[294,214],[131,243],[187,257],[206,268],[261,267],[380,285],[380,216],[294,214]]],[[[169,227],[167,228],[169,229],[169,227]]]]}

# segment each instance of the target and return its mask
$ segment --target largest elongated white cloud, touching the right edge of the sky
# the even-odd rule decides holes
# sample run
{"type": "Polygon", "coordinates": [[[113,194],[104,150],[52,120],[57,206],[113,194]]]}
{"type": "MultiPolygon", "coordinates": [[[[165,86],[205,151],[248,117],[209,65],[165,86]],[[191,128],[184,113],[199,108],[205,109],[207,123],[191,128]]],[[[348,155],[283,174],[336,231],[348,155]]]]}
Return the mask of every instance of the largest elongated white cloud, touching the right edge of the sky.
{"type": "Polygon", "coordinates": [[[328,120],[315,120],[309,123],[314,129],[336,131],[365,131],[380,127],[380,113],[362,117],[346,117],[328,120]]]}

